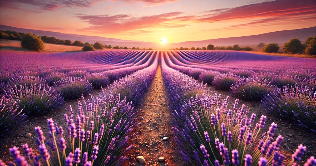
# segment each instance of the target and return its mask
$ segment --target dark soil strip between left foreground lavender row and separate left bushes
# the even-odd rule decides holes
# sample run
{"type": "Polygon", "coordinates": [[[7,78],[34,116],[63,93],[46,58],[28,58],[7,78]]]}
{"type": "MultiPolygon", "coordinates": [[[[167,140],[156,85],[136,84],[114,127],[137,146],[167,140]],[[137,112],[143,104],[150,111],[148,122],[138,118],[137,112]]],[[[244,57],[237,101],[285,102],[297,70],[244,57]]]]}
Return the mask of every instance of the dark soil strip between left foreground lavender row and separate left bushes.
{"type": "MultiPolygon", "coordinates": [[[[91,92],[92,95],[98,96],[98,93],[101,93],[100,89],[93,90],[91,92]]],[[[88,96],[85,96],[88,98],[88,96]]],[[[81,98],[80,98],[81,99],[81,98]]],[[[9,152],[9,148],[13,146],[22,147],[23,144],[28,144],[29,147],[32,147],[34,153],[36,155],[40,155],[37,145],[35,144],[36,132],[34,127],[40,126],[43,130],[44,136],[49,138],[49,130],[47,127],[47,118],[52,118],[58,126],[63,126],[64,129],[67,128],[67,123],[64,121],[64,114],[69,113],[68,107],[72,106],[74,114],[77,113],[78,109],[78,100],[67,100],[61,108],[56,110],[52,110],[51,112],[40,114],[36,116],[28,116],[27,122],[25,124],[21,124],[20,127],[12,130],[10,133],[6,133],[3,137],[0,137],[0,158],[4,163],[9,163],[9,161],[13,161],[11,157],[11,153],[9,152]],[[25,138],[23,137],[25,134],[31,133],[31,137],[25,138]]],[[[75,115],[76,116],[76,115],[75,115]]],[[[21,154],[23,151],[20,149],[21,154]]]]}

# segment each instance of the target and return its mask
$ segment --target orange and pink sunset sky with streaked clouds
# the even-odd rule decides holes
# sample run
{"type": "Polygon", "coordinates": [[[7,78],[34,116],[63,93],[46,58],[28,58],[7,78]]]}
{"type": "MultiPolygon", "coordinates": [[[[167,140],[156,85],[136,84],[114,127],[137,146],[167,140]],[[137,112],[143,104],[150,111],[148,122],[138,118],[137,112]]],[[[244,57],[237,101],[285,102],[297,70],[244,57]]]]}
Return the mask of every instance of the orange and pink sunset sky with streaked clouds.
{"type": "Polygon", "coordinates": [[[0,24],[168,43],[316,26],[315,0],[0,0],[0,24]]]}

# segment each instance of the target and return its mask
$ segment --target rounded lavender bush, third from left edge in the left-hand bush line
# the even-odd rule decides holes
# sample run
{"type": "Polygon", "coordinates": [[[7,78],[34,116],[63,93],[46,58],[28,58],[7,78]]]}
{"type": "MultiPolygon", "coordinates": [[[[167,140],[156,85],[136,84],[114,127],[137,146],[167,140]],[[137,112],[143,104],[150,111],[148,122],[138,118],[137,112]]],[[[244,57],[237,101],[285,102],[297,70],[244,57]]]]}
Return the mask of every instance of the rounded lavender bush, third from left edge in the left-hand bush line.
{"type": "Polygon", "coordinates": [[[88,95],[92,90],[92,84],[81,77],[65,77],[54,82],[56,89],[62,93],[64,99],[76,99],[88,95]]]}

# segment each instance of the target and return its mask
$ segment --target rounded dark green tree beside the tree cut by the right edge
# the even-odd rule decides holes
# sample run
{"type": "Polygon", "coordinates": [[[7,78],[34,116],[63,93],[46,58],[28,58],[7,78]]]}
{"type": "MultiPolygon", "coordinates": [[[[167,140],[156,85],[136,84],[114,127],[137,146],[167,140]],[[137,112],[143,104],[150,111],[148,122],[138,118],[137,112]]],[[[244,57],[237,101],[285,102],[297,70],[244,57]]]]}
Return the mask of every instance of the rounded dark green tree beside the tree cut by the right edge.
{"type": "Polygon", "coordinates": [[[283,52],[289,54],[301,54],[304,51],[304,46],[302,45],[301,41],[297,38],[290,39],[288,42],[283,44],[283,52]]]}

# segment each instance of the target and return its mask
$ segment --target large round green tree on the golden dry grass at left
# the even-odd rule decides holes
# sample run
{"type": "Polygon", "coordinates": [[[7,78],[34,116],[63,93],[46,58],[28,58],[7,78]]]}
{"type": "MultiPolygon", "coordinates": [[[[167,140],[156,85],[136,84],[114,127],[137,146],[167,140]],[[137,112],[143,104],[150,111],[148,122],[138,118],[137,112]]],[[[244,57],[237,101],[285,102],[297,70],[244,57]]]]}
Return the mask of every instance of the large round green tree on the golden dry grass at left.
{"type": "Polygon", "coordinates": [[[33,51],[41,51],[45,47],[44,41],[40,38],[40,36],[36,36],[31,33],[27,33],[23,36],[21,46],[33,51]]]}

